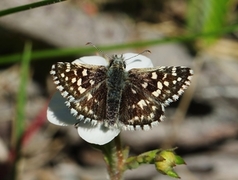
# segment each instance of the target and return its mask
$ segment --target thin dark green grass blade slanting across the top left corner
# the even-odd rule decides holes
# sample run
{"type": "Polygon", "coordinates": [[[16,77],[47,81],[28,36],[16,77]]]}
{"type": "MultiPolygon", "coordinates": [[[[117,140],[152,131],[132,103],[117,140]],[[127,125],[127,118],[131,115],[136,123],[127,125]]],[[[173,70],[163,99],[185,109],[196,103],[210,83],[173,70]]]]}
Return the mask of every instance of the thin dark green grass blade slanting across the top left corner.
{"type": "Polygon", "coordinates": [[[41,6],[55,4],[58,2],[62,2],[62,1],[66,1],[66,0],[45,0],[45,1],[40,1],[40,2],[36,2],[36,3],[26,4],[23,6],[17,6],[14,8],[5,9],[5,10],[0,11],[0,17],[6,16],[9,14],[13,14],[13,13],[17,13],[17,12],[21,12],[21,11],[30,10],[30,9],[41,7],[41,6]]]}

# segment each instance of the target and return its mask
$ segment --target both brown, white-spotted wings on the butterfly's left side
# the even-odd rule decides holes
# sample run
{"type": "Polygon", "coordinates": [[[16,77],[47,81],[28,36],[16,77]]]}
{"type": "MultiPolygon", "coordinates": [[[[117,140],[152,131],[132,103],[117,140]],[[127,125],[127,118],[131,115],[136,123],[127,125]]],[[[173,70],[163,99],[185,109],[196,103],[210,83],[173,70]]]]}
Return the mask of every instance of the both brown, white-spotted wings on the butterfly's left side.
{"type": "Polygon", "coordinates": [[[59,62],[52,66],[54,83],[71,113],[79,119],[105,119],[106,67],[59,62]]]}

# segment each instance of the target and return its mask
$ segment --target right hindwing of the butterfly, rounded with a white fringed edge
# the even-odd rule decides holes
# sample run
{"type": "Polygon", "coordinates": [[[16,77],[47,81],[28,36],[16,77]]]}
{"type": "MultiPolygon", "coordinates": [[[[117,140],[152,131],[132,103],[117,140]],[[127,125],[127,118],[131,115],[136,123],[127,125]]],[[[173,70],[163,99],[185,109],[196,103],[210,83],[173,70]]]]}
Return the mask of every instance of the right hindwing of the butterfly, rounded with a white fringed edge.
{"type": "Polygon", "coordinates": [[[150,129],[163,117],[164,107],[161,103],[149,97],[138,86],[126,84],[120,104],[120,122],[124,129],[150,129]]]}

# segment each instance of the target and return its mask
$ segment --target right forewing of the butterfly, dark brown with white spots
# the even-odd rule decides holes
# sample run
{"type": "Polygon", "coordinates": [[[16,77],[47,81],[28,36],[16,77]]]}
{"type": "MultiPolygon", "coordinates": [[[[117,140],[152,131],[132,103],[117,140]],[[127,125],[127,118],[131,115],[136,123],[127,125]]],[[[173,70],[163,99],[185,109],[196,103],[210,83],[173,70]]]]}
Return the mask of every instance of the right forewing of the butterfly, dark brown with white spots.
{"type": "Polygon", "coordinates": [[[190,85],[192,70],[183,66],[162,66],[158,68],[132,69],[129,79],[159,103],[168,105],[176,101],[190,85]]]}

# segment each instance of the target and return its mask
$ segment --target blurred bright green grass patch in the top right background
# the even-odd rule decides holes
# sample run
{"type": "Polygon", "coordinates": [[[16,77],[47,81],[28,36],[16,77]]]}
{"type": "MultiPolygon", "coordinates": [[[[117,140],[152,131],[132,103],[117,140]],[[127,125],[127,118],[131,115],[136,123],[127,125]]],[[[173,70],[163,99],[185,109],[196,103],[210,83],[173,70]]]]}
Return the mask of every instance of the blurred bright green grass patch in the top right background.
{"type": "MultiPolygon", "coordinates": [[[[222,29],[226,25],[230,3],[227,0],[190,0],[187,14],[188,30],[193,33],[211,32],[222,29]]],[[[216,36],[206,37],[203,40],[211,44],[216,36]]]]}

